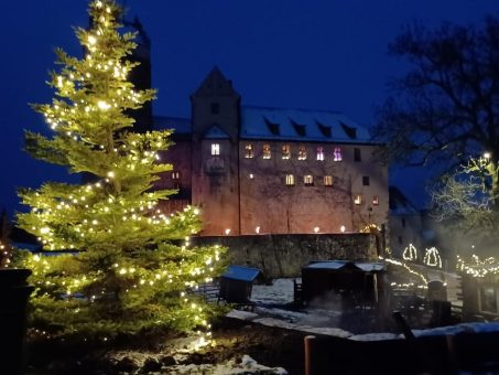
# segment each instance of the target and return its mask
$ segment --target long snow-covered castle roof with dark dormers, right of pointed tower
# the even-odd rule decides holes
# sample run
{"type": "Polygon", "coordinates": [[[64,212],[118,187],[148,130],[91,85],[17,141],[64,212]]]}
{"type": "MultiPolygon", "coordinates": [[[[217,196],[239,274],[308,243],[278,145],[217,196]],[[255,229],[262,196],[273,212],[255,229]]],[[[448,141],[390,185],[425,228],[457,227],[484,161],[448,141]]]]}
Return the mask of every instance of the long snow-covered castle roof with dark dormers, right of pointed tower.
{"type": "Polygon", "coordinates": [[[367,128],[341,113],[241,107],[241,138],[371,143],[367,128]]]}

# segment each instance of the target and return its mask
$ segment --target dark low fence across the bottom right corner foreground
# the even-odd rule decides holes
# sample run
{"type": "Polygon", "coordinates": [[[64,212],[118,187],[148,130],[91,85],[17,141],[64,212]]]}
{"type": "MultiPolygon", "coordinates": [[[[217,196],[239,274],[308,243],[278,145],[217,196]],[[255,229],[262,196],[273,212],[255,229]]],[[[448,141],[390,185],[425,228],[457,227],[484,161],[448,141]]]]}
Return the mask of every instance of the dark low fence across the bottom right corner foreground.
{"type": "Polygon", "coordinates": [[[305,375],[498,373],[499,332],[354,341],[306,336],[305,375]]]}

